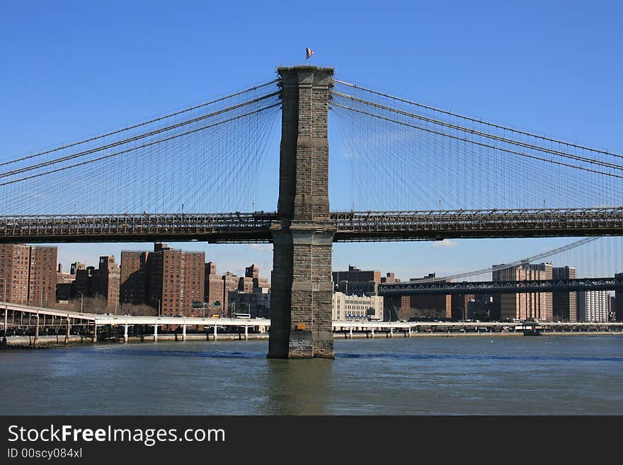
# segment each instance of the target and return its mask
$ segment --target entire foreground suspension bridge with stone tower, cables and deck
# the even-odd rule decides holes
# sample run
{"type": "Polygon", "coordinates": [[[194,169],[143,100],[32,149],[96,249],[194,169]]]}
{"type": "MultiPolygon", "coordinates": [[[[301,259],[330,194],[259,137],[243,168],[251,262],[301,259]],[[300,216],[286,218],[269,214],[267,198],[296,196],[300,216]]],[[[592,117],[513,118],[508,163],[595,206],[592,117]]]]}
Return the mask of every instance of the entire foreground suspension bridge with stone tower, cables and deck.
{"type": "MultiPolygon", "coordinates": [[[[391,96],[336,79],[332,68],[277,73],[1,162],[0,242],[273,243],[268,357],[333,358],[335,242],[623,235],[621,154],[391,96]],[[331,157],[330,118],[341,141],[331,157]],[[258,178],[279,127],[276,210],[254,211],[258,190],[270,188],[258,178]],[[341,176],[350,176],[353,208],[343,211],[329,207],[336,156],[350,163],[341,176]]],[[[547,285],[556,282],[530,289],[547,285]]]]}

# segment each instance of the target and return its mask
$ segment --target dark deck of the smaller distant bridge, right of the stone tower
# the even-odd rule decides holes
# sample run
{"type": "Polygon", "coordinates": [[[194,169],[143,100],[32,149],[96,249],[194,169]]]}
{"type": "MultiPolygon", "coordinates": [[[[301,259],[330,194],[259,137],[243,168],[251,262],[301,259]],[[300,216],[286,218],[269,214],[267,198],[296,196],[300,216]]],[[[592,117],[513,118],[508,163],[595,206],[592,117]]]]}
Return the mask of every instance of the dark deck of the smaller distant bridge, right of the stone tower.
{"type": "Polygon", "coordinates": [[[622,277],[584,277],[573,280],[475,281],[382,283],[378,293],[389,295],[417,294],[522,294],[525,292],[576,292],[623,289],[622,277]]]}

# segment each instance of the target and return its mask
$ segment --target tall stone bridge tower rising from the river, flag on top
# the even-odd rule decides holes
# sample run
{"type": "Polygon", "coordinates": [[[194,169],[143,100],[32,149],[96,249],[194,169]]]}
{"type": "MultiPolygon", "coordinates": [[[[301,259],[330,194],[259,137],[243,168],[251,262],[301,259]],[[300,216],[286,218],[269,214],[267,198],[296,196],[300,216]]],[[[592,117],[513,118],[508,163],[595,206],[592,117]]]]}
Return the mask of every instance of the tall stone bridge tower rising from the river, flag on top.
{"type": "Polygon", "coordinates": [[[334,358],[327,119],[333,68],[278,68],[282,128],[268,357],[334,358]]]}

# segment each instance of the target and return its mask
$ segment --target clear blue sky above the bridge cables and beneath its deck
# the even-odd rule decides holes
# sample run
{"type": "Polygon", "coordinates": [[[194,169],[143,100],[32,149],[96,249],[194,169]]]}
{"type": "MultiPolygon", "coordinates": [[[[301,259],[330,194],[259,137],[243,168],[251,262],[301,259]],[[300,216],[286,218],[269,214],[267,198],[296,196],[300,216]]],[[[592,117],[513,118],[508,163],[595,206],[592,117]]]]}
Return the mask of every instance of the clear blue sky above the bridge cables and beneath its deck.
{"type": "MultiPolygon", "coordinates": [[[[265,81],[305,47],[341,79],[621,152],[622,17],[618,1],[1,0],[0,159],[265,81]]],[[[408,278],[568,241],[344,244],[333,268],[408,278]]],[[[219,272],[271,268],[270,246],[173,245],[206,250],[219,272]]],[[[150,247],[60,245],[59,260],[150,247]]]]}

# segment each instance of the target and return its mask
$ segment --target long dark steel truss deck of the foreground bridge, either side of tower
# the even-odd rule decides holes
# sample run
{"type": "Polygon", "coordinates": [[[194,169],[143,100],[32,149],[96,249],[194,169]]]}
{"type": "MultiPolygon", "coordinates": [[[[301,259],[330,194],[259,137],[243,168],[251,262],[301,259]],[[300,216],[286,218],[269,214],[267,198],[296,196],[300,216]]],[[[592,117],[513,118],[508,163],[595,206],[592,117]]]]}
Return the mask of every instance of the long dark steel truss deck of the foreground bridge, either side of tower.
{"type": "MultiPolygon", "coordinates": [[[[0,243],[271,242],[275,212],[0,217],[0,243]]],[[[573,209],[333,212],[334,242],[621,236],[623,206],[573,209]]]]}

